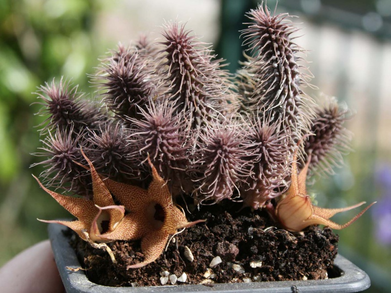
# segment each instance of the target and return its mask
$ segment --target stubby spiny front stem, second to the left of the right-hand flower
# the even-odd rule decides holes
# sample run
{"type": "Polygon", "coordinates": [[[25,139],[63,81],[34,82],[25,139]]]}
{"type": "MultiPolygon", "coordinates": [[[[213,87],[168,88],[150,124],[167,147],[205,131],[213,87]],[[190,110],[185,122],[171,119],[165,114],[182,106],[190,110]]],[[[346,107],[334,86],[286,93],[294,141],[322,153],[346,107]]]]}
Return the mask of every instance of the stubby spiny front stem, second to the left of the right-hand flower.
{"type": "Polygon", "coordinates": [[[251,173],[247,137],[247,130],[232,121],[212,123],[200,134],[191,166],[191,171],[197,174],[195,191],[199,192],[200,202],[239,196],[239,186],[251,173]]]}

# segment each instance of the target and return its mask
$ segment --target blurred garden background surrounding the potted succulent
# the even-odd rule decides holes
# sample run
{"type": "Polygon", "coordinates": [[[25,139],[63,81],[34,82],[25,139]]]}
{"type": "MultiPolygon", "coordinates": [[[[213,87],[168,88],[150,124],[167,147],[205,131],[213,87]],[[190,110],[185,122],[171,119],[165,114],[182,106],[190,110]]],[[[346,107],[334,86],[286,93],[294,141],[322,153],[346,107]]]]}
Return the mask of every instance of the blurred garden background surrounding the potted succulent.
{"type": "MultiPolygon", "coordinates": [[[[234,72],[242,59],[239,30],[253,0],[1,0],[0,1],[0,266],[46,238],[36,218],[67,213],[33,181],[40,167],[31,153],[41,146],[34,115],[40,84],[61,76],[93,95],[87,74],[118,42],[140,33],[159,38],[164,21],[187,22],[213,43],[234,72]]],[[[336,96],[355,113],[346,166],[311,188],[322,207],[378,201],[340,235],[339,251],[364,269],[372,287],[391,292],[391,0],[268,0],[301,28],[297,44],[314,74],[314,99],[336,96]]],[[[347,221],[352,213],[333,218],[347,221]]]]}

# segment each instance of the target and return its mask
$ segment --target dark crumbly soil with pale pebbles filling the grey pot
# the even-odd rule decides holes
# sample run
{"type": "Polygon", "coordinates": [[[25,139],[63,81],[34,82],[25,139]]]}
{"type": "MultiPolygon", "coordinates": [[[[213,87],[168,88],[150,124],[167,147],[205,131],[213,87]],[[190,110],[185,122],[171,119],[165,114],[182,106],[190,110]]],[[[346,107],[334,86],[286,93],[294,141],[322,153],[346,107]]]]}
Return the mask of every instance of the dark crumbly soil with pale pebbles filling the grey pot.
{"type": "MultiPolygon", "coordinates": [[[[109,243],[117,264],[111,262],[106,251],[92,248],[79,237],[72,237],[71,243],[88,279],[105,286],[161,286],[170,275],[179,277],[182,273],[187,275],[186,282],[177,281],[177,285],[338,276],[333,269],[338,235],[331,229],[309,227],[301,233],[290,233],[276,228],[265,211],[239,209],[240,204],[227,202],[195,210],[188,219],[207,222],[176,235],[167,251],[140,269],[126,269],[143,260],[140,241],[109,243]],[[193,253],[192,262],[185,256],[186,247],[193,253]],[[216,256],[222,262],[210,268],[216,256]]],[[[169,280],[167,285],[171,283],[169,280]]]]}

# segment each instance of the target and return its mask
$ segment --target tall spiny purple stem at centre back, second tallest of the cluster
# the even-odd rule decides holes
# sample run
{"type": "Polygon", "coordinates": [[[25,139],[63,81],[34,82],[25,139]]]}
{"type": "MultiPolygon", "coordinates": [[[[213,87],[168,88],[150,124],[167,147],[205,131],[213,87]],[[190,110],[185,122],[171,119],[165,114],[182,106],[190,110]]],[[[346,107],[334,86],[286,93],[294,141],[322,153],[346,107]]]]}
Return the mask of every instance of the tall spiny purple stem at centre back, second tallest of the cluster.
{"type": "Polygon", "coordinates": [[[212,52],[196,41],[184,25],[169,23],[163,33],[168,99],[175,113],[186,117],[187,128],[198,129],[221,115],[233,101],[227,73],[212,52]]]}

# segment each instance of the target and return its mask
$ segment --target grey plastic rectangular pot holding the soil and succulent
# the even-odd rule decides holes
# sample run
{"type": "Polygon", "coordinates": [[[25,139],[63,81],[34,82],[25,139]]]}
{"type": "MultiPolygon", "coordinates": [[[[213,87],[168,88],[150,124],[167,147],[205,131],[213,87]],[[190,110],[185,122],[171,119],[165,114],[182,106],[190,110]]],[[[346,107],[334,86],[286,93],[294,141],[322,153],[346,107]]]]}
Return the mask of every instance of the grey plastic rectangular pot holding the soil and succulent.
{"type": "Polygon", "coordinates": [[[307,280],[307,281],[280,281],[280,282],[252,282],[252,283],[230,283],[213,284],[213,287],[204,285],[168,285],[158,287],[106,287],[90,282],[86,274],[80,270],[71,272],[66,269],[80,268],[80,263],[75,251],[70,247],[68,239],[64,236],[63,230],[66,228],[59,224],[49,224],[49,238],[60,271],[65,290],[67,293],[174,293],[174,292],[214,292],[214,293],[296,293],[296,292],[360,292],[370,286],[369,276],[346,258],[338,255],[335,259],[335,266],[342,275],[337,278],[327,280],[307,280]]]}

